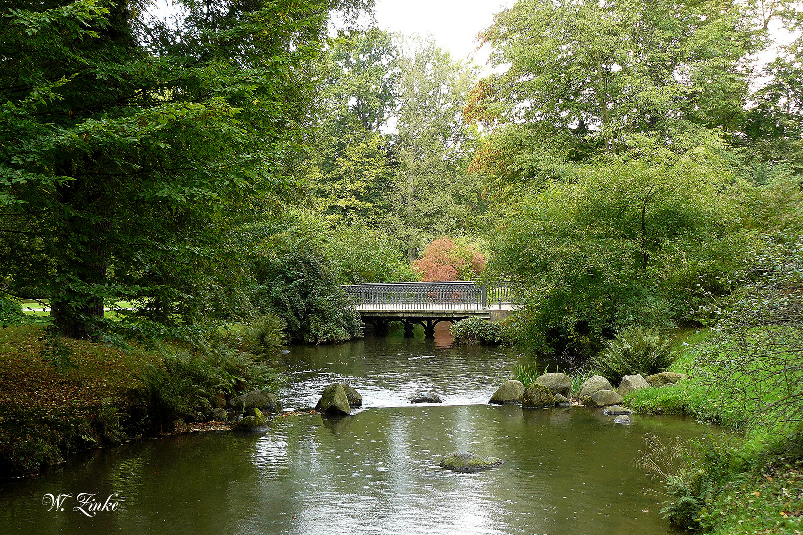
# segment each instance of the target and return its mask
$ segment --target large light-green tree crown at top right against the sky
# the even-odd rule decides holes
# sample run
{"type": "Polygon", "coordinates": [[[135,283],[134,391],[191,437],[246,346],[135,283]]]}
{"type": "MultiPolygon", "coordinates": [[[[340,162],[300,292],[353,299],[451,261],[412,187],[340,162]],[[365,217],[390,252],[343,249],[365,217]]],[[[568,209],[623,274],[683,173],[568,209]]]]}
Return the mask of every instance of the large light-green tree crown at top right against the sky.
{"type": "Polygon", "coordinates": [[[474,168],[503,199],[634,136],[731,130],[759,43],[751,17],[727,2],[516,2],[481,34],[491,65],[509,67],[468,100],[469,119],[493,132],[474,168]]]}

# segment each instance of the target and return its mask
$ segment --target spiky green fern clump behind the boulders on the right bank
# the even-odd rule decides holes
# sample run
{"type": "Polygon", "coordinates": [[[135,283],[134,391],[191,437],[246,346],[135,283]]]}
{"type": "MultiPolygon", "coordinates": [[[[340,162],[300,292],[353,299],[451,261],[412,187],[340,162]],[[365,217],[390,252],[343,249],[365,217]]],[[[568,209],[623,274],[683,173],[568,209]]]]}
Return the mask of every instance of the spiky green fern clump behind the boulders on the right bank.
{"type": "Polygon", "coordinates": [[[618,383],[625,375],[642,374],[645,377],[665,371],[675,356],[671,339],[658,330],[632,326],[618,331],[616,338],[605,342],[605,350],[593,359],[599,375],[618,383]]]}

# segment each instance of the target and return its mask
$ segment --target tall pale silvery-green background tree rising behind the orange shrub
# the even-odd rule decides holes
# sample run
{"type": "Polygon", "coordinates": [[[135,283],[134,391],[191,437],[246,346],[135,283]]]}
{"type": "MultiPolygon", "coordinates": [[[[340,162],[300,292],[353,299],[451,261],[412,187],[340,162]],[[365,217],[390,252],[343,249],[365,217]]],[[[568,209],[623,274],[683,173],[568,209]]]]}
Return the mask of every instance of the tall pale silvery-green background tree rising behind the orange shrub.
{"type": "Polygon", "coordinates": [[[476,67],[456,62],[431,39],[401,39],[398,59],[397,172],[385,220],[410,256],[435,237],[476,227],[481,182],[466,173],[475,136],[463,106],[476,67]]]}

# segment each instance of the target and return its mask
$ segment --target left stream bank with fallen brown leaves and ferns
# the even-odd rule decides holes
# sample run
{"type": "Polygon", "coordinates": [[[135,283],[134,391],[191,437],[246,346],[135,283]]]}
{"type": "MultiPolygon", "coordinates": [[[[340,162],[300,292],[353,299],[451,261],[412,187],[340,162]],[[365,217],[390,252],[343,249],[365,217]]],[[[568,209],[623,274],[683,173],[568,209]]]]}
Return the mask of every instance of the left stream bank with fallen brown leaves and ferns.
{"type": "Polygon", "coordinates": [[[0,330],[0,475],[38,472],[70,452],[208,419],[226,399],[277,375],[241,338],[205,351],[128,350],[0,330]]]}

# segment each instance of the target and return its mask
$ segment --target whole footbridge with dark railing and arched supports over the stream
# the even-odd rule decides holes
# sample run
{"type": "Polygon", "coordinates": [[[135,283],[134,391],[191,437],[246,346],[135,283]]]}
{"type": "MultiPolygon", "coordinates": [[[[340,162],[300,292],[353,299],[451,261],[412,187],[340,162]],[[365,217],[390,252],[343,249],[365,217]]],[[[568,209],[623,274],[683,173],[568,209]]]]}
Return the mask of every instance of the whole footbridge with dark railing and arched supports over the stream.
{"type": "Polygon", "coordinates": [[[406,337],[420,325],[426,338],[434,338],[440,322],[472,317],[498,321],[512,308],[511,292],[505,285],[486,288],[475,282],[389,282],[343,289],[356,298],[363,322],[380,335],[387,334],[389,322],[402,322],[406,337]]]}

